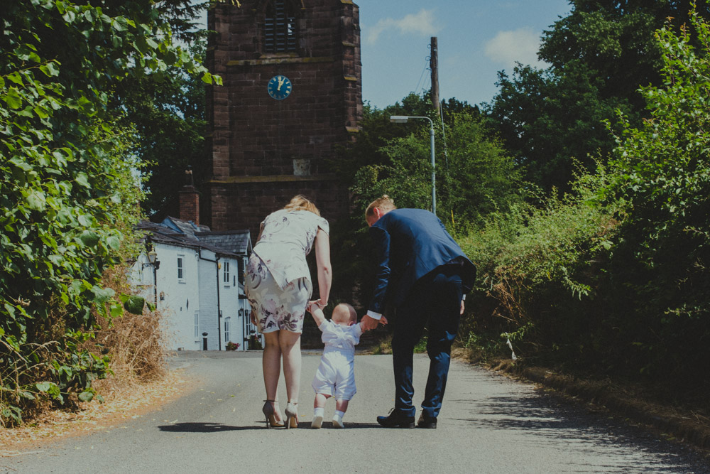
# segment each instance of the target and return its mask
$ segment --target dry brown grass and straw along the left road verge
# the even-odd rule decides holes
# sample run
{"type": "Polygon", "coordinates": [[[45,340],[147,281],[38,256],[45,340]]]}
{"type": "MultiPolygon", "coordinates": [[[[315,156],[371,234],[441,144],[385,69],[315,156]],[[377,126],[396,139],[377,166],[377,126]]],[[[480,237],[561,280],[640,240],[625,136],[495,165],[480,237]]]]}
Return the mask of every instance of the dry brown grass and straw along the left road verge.
{"type": "MultiPolygon", "coordinates": [[[[133,290],[126,281],[127,270],[128,266],[119,266],[107,271],[102,284],[114,289],[116,295],[130,294],[133,290]]],[[[136,410],[140,411],[143,406],[154,406],[180,393],[176,387],[182,380],[168,373],[161,344],[163,315],[159,311],[144,311],[141,315],[124,311],[123,316],[110,321],[98,314],[94,316],[101,328],[84,348],[111,357],[109,366],[113,374],[93,382],[105,403],[82,403],[73,396],[58,409],[51,402],[37,400],[26,411],[21,426],[0,428],[0,456],[9,456],[12,446],[67,433],[104,429],[106,424],[136,416],[136,410]]]]}

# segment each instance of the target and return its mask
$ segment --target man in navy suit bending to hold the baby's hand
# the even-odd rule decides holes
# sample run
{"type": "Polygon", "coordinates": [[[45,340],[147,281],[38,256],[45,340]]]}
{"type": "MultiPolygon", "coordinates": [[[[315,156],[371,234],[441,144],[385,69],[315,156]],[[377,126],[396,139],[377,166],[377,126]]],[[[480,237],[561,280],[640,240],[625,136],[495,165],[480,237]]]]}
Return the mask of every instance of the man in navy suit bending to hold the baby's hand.
{"type": "Polygon", "coordinates": [[[464,291],[473,286],[476,267],[432,212],[397,209],[383,195],[368,206],[365,220],[378,266],[373,300],[361,323],[365,329],[386,324],[382,313],[388,301],[397,315],[392,338],[395,408],[377,421],[388,428],[414,428],[414,346],[428,323],[429,378],[417,426],[436,428],[451,345],[464,313],[464,291]]]}

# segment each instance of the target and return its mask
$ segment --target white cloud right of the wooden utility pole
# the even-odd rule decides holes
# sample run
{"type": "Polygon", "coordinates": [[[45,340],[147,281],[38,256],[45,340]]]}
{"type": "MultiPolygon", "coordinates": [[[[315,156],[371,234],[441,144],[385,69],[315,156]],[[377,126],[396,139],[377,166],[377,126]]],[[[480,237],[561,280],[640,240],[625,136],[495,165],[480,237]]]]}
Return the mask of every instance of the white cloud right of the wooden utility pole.
{"type": "Polygon", "coordinates": [[[498,31],[496,37],[487,41],[484,52],[495,63],[506,69],[513,69],[515,61],[524,65],[542,66],[537,60],[537,50],[540,48],[540,33],[532,28],[519,28],[513,31],[498,31]]]}

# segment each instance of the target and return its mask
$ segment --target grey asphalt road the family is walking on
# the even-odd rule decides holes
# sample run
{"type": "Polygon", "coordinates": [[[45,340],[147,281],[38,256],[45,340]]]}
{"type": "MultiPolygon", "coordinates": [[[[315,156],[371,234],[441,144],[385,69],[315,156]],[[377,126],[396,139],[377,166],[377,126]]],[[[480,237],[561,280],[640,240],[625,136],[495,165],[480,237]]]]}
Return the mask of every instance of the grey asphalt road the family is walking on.
{"type": "MultiPolygon", "coordinates": [[[[194,389],[124,426],[0,458],[9,473],[710,473],[710,460],[623,421],[530,385],[452,363],[436,430],[384,429],[393,406],[391,357],[358,355],[358,393],[344,422],[310,429],[305,354],[298,429],[266,429],[261,353],[183,352],[173,360],[194,389]]],[[[415,358],[415,398],[427,375],[415,358]]],[[[285,400],[285,389],[279,391],[285,400]]],[[[282,409],[285,404],[282,404],[282,409]]]]}

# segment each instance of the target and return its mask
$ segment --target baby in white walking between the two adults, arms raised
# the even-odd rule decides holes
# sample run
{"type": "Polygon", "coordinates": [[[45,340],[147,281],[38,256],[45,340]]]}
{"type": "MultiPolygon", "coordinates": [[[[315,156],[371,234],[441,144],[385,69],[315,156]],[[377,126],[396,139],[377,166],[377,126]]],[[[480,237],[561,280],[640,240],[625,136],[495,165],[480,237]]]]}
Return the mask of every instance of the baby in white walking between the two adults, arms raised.
{"type": "Polygon", "coordinates": [[[311,384],[315,390],[311,427],[321,427],[325,402],[335,397],[333,427],[343,428],[343,416],[355,394],[355,346],[360,342],[362,327],[355,323],[357,314],[354,308],[346,303],[335,307],[330,321],[316,301],[310,303],[308,311],[323,333],[325,344],[320,366],[311,384]]]}

